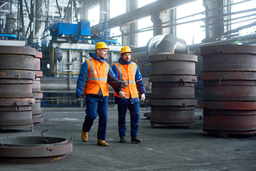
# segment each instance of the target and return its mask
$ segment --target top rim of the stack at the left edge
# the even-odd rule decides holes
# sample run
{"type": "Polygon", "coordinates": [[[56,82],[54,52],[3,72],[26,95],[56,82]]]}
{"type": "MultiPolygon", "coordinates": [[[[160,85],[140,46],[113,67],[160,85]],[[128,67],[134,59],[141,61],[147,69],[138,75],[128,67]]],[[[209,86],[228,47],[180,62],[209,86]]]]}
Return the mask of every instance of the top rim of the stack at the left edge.
{"type": "Polygon", "coordinates": [[[27,55],[35,56],[35,48],[16,47],[16,46],[1,46],[0,54],[27,54],[27,55]]]}

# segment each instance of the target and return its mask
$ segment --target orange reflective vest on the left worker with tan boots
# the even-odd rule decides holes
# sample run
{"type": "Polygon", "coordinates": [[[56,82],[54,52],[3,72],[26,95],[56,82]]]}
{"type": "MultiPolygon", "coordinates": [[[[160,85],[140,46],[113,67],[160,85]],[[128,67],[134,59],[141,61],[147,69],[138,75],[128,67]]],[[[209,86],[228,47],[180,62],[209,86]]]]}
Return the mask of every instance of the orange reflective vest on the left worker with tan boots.
{"type": "Polygon", "coordinates": [[[86,94],[98,94],[99,88],[101,88],[103,96],[109,96],[107,85],[107,74],[109,72],[109,65],[106,61],[100,62],[94,60],[86,60],[88,65],[89,77],[86,84],[86,94]]]}

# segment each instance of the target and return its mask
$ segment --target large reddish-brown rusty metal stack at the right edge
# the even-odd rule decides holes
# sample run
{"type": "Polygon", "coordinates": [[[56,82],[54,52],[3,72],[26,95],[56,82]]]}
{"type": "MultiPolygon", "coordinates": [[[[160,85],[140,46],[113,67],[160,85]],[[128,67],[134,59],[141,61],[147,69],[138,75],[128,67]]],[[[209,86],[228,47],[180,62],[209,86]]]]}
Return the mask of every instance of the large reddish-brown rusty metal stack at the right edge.
{"type": "Polygon", "coordinates": [[[203,131],[222,137],[256,132],[256,47],[201,48],[203,131]]]}

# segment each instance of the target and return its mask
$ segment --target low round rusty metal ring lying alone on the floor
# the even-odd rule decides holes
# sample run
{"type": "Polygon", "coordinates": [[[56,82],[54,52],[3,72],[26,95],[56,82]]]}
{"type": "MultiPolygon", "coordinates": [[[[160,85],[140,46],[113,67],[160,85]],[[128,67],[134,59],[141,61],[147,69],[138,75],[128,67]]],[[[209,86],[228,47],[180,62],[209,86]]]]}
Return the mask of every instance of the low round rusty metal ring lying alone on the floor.
{"type": "Polygon", "coordinates": [[[73,151],[73,142],[49,136],[17,136],[0,138],[0,156],[37,158],[66,155],[73,151]]]}

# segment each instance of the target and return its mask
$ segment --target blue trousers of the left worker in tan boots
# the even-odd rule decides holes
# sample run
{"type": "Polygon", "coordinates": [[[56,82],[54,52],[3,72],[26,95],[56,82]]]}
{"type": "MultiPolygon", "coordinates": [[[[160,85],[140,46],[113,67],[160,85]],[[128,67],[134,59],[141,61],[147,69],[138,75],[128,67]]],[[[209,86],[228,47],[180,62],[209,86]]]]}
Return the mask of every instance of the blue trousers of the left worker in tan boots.
{"type": "Polygon", "coordinates": [[[89,132],[94,119],[99,115],[99,125],[97,137],[100,140],[106,140],[106,122],[107,122],[108,98],[94,98],[86,96],[86,117],[83,123],[83,130],[89,132]]]}

